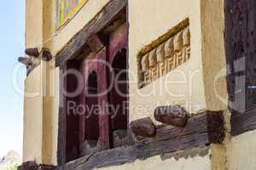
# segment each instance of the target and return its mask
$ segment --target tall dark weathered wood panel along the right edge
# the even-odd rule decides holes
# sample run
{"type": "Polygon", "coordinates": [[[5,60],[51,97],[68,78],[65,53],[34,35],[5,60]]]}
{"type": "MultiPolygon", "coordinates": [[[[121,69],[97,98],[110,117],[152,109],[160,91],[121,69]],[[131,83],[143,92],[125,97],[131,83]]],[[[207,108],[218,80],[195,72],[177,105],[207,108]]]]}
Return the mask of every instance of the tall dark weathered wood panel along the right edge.
{"type": "Polygon", "coordinates": [[[256,129],[256,1],[225,0],[225,50],[231,135],[256,129]]]}

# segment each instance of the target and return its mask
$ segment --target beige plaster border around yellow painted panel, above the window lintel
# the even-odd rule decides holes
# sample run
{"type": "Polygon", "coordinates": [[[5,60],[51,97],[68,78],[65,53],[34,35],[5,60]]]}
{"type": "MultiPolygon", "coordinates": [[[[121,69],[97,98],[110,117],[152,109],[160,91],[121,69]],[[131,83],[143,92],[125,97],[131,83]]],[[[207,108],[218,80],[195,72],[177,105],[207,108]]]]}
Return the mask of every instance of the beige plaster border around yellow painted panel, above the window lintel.
{"type": "Polygon", "coordinates": [[[47,12],[44,15],[48,15],[48,19],[44,20],[44,28],[48,29],[44,32],[44,46],[48,47],[52,54],[58,53],[108,2],[109,0],[89,0],[79,13],[59,31],[55,31],[55,3],[46,3],[44,10],[47,12]],[[49,13],[51,18],[49,18],[49,13]]]}

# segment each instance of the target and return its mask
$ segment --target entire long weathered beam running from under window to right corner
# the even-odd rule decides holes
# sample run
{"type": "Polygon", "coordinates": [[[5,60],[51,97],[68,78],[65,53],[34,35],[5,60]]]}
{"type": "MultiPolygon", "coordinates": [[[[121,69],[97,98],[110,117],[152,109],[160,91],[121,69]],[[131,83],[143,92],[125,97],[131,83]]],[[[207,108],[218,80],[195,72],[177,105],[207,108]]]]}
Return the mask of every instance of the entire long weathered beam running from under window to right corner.
{"type": "Polygon", "coordinates": [[[178,150],[189,150],[209,144],[220,144],[224,140],[224,116],[222,112],[206,111],[189,118],[185,127],[162,125],[157,127],[154,138],[137,137],[137,144],[113,150],[92,153],[68,162],[58,169],[82,170],[122,165],[163,155],[178,150]]]}

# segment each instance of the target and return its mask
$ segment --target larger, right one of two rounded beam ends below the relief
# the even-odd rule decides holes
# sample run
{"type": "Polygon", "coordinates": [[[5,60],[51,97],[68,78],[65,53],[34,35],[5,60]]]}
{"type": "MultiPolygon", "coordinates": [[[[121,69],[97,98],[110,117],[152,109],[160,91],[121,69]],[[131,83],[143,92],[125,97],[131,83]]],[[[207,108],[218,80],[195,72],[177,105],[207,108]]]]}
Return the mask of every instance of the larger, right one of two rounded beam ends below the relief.
{"type": "Polygon", "coordinates": [[[180,105],[160,106],[154,111],[154,118],[158,122],[175,127],[184,127],[189,114],[180,105]]]}

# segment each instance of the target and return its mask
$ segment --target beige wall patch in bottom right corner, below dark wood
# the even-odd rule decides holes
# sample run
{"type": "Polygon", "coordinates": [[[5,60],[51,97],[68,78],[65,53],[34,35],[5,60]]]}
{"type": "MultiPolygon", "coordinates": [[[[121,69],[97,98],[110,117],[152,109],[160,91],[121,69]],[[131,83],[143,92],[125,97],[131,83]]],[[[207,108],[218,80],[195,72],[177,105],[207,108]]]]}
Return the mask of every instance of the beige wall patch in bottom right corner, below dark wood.
{"type": "Polygon", "coordinates": [[[256,131],[243,133],[227,145],[229,170],[256,169],[256,131]]]}

